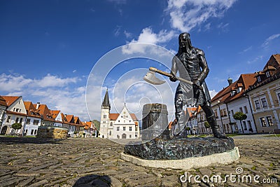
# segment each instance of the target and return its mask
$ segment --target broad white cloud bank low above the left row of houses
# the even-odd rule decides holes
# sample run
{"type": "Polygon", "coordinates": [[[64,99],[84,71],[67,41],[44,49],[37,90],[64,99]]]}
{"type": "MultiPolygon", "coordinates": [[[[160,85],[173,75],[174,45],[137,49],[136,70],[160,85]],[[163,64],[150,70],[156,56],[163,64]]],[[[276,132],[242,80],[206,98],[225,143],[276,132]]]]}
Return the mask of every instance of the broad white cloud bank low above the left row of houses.
{"type": "Polygon", "coordinates": [[[22,96],[24,101],[41,102],[49,109],[89,120],[85,107],[85,86],[78,86],[80,78],[59,78],[48,74],[41,79],[18,74],[0,75],[1,95],[22,96]]]}

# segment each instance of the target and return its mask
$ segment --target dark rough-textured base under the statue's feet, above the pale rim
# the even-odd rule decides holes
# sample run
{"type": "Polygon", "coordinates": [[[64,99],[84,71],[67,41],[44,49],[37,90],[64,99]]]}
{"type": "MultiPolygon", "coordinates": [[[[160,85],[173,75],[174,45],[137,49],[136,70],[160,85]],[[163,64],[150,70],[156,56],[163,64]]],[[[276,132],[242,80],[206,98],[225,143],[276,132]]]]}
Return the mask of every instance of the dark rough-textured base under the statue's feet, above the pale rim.
{"type": "Polygon", "coordinates": [[[124,152],[146,160],[180,160],[224,153],[234,148],[235,142],[230,137],[228,139],[194,137],[169,140],[155,138],[144,144],[127,144],[124,152]]]}

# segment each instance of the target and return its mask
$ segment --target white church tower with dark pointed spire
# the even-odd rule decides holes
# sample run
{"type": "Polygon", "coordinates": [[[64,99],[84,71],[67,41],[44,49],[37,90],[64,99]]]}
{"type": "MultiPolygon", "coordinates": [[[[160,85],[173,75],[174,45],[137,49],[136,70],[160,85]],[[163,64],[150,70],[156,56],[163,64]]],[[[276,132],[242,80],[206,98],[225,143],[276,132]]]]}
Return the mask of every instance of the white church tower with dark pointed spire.
{"type": "Polygon", "coordinates": [[[110,115],[111,105],[109,101],[108,89],[106,90],[106,94],[104,96],[101,108],[101,120],[100,120],[100,130],[99,134],[101,138],[109,138],[109,115],[110,115]]]}

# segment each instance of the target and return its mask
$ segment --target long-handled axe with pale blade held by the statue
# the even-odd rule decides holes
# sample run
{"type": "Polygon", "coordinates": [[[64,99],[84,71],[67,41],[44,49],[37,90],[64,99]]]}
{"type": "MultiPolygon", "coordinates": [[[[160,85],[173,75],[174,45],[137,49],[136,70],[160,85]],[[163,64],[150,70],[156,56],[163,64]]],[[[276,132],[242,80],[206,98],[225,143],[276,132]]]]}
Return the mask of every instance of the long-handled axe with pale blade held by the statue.
{"type": "MultiPolygon", "coordinates": [[[[161,85],[163,83],[165,83],[165,81],[162,81],[160,80],[159,78],[157,78],[155,76],[155,73],[158,73],[158,74],[162,74],[164,76],[168,76],[168,77],[172,77],[174,75],[172,74],[169,74],[165,71],[161,71],[159,69],[156,69],[155,67],[150,67],[149,68],[150,71],[148,71],[148,73],[146,74],[146,76],[144,76],[144,80],[147,81],[148,83],[151,83],[153,85],[161,85]]],[[[190,84],[190,85],[193,85],[193,82],[192,81],[188,81],[184,78],[181,78],[181,77],[178,77],[178,76],[175,76],[175,78],[179,81],[182,81],[183,83],[187,83],[187,84],[190,84]]],[[[203,90],[202,86],[200,85],[200,90],[203,90]]]]}

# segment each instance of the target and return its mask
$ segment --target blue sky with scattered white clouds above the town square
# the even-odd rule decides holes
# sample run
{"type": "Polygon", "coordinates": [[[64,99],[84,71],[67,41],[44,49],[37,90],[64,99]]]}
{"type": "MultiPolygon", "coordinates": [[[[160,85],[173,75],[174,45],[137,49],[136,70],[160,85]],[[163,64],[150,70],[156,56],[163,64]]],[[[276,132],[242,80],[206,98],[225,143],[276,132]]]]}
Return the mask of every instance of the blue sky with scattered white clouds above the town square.
{"type": "MultiPolygon", "coordinates": [[[[22,95],[88,120],[87,76],[100,57],[137,42],[175,52],[181,32],[190,32],[193,46],[204,50],[214,95],[228,76],[235,81],[260,71],[280,53],[279,6],[277,0],[0,1],[0,95],[22,95]]],[[[126,71],[153,64],[134,62],[106,77],[111,95],[126,71]]],[[[99,119],[100,98],[92,101],[90,116],[99,119]]],[[[122,104],[116,103],[118,111],[122,104]]]]}

